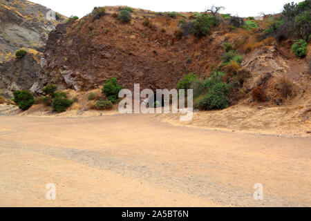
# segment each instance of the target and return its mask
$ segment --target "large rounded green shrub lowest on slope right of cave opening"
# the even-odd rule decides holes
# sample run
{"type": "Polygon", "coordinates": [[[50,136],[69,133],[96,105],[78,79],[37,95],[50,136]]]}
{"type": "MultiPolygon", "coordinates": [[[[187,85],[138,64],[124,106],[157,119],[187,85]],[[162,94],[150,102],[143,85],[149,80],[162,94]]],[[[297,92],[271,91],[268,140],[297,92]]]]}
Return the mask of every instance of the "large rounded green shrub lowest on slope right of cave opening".
{"type": "Polygon", "coordinates": [[[222,110],[229,106],[229,86],[220,82],[211,86],[207,93],[200,100],[198,106],[201,110],[222,110]]]}

